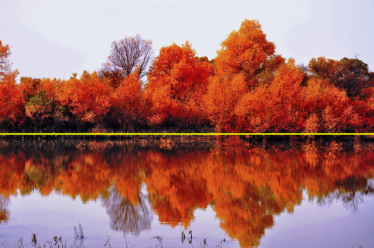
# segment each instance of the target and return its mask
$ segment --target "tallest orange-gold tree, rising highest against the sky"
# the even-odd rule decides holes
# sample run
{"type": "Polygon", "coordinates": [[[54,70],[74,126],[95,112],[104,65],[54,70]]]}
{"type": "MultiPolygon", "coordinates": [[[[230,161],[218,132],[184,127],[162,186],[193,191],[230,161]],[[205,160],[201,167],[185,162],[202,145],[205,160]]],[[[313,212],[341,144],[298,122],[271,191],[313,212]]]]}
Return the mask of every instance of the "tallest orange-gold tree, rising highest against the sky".
{"type": "Polygon", "coordinates": [[[232,122],[238,99],[269,82],[284,62],[275,55],[275,45],[266,40],[258,21],[244,20],[238,31],[232,31],[217,51],[215,75],[209,79],[205,96],[206,113],[218,129],[232,122]]]}

